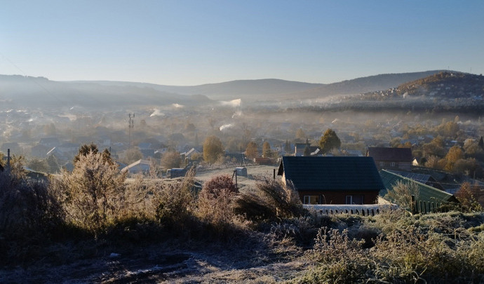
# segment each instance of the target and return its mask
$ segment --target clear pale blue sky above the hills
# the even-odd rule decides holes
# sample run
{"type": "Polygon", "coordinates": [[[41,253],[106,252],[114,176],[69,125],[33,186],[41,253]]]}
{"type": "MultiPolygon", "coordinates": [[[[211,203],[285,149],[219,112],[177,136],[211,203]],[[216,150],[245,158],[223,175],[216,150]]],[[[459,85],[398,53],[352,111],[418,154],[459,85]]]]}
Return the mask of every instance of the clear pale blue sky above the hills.
{"type": "Polygon", "coordinates": [[[484,73],[484,1],[0,0],[0,74],[194,86],[484,73]]]}

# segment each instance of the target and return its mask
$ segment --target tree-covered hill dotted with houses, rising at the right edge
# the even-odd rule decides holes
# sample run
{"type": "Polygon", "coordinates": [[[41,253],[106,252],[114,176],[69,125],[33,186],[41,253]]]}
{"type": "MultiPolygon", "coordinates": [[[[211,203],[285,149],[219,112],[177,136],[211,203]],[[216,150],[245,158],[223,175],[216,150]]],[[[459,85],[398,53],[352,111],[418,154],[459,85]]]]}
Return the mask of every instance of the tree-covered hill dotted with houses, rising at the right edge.
{"type": "Polygon", "coordinates": [[[358,111],[484,111],[484,76],[438,72],[398,87],[347,96],[312,109],[358,111]]]}

